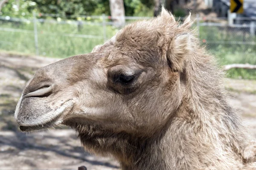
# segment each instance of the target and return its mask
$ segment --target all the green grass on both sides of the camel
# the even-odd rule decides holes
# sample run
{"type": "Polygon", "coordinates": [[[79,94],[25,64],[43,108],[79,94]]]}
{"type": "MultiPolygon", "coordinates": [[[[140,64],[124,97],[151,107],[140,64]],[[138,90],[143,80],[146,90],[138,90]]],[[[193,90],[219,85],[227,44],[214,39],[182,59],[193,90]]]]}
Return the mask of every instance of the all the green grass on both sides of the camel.
{"type": "MultiPolygon", "coordinates": [[[[1,22],[2,28],[17,28],[29,30],[29,33],[0,31],[0,50],[15,51],[23,54],[35,54],[33,23],[1,22]]],[[[103,27],[84,25],[81,29],[71,24],[37,23],[39,55],[66,58],[77,54],[89,53],[95,45],[102,44],[103,27]],[[100,39],[67,37],[61,34],[94,35],[100,39]]],[[[111,38],[117,29],[106,27],[107,39],[111,38]]],[[[218,27],[200,27],[200,38],[210,41],[254,41],[256,37],[244,34],[243,31],[218,27]]],[[[214,54],[221,65],[233,63],[256,64],[256,45],[212,44],[207,43],[209,51],[214,54]]],[[[256,79],[256,70],[230,69],[230,78],[256,79]]]]}

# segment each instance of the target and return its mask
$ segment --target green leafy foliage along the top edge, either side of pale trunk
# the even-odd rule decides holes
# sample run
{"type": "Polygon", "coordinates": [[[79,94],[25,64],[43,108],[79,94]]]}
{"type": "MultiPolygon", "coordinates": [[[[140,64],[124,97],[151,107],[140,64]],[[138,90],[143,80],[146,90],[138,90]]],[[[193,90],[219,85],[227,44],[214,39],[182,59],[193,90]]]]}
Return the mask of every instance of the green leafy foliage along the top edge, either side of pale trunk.
{"type": "MultiPolygon", "coordinates": [[[[126,16],[152,16],[154,0],[124,0],[126,16]]],[[[66,15],[110,15],[108,0],[9,0],[1,15],[28,17],[32,11],[66,15]]]]}

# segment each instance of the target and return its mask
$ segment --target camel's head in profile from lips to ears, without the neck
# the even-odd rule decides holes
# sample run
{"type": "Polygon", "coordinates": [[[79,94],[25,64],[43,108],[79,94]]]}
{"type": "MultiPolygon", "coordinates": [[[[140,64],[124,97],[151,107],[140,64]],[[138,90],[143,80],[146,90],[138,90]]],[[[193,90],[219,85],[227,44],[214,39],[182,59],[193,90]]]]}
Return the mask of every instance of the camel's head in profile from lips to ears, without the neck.
{"type": "Polygon", "coordinates": [[[92,53],[40,68],[17,104],[20,130],[65,124],[106,133],[157,133],[183,98],[191,25],[190,17],[180,24],[163,9],[157,18],[125,26],[92,53]]]}

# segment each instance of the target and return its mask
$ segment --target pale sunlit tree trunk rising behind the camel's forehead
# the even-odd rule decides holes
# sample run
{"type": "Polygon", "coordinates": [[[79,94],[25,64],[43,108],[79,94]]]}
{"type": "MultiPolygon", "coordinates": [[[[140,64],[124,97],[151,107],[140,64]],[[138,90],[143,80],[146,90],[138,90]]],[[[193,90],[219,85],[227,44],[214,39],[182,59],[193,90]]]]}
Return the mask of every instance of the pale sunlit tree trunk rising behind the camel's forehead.
{"type": "Polygon", "coordinates": [[[125,7],[123,0],[109,0],[113,26],[122,27],[125,25],[125,7]]]}

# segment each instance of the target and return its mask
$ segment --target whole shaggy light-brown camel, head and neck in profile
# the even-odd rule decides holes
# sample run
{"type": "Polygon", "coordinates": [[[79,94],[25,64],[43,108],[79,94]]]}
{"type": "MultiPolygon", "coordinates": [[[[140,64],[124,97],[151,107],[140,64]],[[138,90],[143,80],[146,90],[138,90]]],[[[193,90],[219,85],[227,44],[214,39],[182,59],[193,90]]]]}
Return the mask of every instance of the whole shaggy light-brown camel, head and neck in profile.
{"type": "Polygon", "coordinates": [[[192,23],[163,8],[89,54],[40,68],[16,107],[20,130],[70,126],[122,170],[256,170],[256,144],[192,23]]]}

